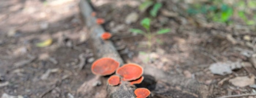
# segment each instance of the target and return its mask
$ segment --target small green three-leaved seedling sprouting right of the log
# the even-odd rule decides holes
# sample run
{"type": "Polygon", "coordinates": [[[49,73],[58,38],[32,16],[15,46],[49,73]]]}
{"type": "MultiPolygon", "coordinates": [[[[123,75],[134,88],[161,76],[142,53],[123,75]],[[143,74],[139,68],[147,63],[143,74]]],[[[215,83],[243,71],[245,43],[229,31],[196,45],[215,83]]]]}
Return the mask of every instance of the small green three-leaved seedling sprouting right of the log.
{"type": "Polygon", "coordinates": [[[144,37],[146,37],[148,39],[148,47],[149,48],[151,48],[153,37],[155,37],[156,35],[160,35],[160,34],[166,34],[171,31],[171,29],[160,29],[160,30],[156,31],[156,33],[152,33],[150,30],[150,23],[151,23],[151,19],[144,18],[141,20],[140,24],[142,27],[144,27],[145,31],[143,31],[141,29],[130,29],[130,31],[132,33],[144,35],[144,37]]]}

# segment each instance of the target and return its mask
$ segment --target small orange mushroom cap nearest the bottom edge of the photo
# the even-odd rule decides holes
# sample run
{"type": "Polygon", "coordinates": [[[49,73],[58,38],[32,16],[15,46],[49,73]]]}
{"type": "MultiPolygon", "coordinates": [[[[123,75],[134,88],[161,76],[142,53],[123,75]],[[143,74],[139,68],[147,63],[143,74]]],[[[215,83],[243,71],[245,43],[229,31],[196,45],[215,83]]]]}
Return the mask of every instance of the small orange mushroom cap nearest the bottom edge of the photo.
{"type": "Polygon", "coordinates": [[[150,95],[150,91],[147,88],[137,88],[134,94],[137,96],[136,98],[146,98],[150,95]]]}

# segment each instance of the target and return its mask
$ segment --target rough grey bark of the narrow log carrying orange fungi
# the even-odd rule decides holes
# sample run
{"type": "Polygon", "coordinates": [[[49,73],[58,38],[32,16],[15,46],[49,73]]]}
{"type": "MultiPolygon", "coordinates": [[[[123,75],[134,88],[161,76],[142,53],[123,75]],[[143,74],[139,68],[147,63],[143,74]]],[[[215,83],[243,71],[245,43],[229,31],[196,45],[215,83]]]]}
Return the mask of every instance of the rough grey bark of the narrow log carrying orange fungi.
{"type": "MultiPolygon", "coordinates": [[[[80,1],[81,14],[84,17],[84,21],[89,30],[89,41],[94,50],[94,54],[97,58],[111,57],[119,61],[120,65],[123,65],[123,60],[116,51],[111,41],[103,41],[100,36],[104,33],[102,26],[96,24],[96,18],[91,16],[92,8],[86,0],[80,1]]],[[[122,82],[119,86],[108,86],[107,92],[110,98],[135,98],[135,87],[129,86],[129,83],[122,82]]]]}

